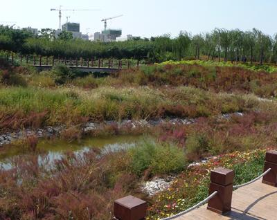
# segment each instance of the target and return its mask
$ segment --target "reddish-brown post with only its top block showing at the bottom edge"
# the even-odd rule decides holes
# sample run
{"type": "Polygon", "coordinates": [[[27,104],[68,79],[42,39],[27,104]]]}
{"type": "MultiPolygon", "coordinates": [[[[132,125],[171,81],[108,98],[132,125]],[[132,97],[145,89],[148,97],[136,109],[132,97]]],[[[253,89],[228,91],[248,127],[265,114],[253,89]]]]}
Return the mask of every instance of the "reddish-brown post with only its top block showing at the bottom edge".
{"type": "Polygon", "coordinates": [[[143,220],[146,217],[147,203],[134,196],[126,196],[114,201],[114,219],[143,220]]]}

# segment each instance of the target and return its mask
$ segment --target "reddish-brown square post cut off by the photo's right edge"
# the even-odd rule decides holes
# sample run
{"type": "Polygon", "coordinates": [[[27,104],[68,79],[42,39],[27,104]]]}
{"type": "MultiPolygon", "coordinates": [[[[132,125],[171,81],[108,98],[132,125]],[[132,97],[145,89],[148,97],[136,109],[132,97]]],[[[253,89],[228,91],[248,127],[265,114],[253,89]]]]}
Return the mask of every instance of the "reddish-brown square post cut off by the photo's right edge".
{"type": "Polygon", "coordinates": [[[262,178],[262,183],[267,185],[277,186],[277,152],[276,151],[269,151],[265,154],[265,169],[271,168],[268,174],[266,174],[262,178]]]}

